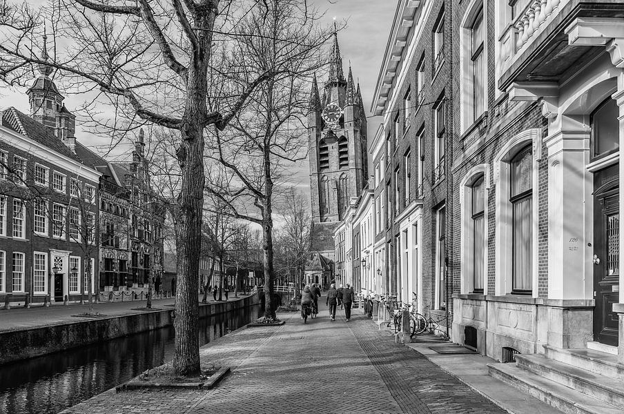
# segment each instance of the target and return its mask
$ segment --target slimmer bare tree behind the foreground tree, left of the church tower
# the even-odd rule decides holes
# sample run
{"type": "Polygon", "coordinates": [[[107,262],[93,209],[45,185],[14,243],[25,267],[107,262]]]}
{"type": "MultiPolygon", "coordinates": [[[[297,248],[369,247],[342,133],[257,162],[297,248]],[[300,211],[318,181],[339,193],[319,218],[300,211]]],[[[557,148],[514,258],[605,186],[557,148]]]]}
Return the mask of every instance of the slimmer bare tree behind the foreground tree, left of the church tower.
{"type": "Polygon", "coordinates": [[[275,319],[273,295],[273,199],[286,181],[287,168],[306,156],[304,118],[308,91],[329,30],[319,30],[315,14],[296,0],[273,0],[268,10],[253,10],[240,24],[231,64],[243,72],[263,72],[280,62],[279,74],[253,92],[230,128],[215,131],[208,155],[233,179],[227,191],[206,190],[220,197],[230,214],[262,226],[266,319],[275,319]]]}

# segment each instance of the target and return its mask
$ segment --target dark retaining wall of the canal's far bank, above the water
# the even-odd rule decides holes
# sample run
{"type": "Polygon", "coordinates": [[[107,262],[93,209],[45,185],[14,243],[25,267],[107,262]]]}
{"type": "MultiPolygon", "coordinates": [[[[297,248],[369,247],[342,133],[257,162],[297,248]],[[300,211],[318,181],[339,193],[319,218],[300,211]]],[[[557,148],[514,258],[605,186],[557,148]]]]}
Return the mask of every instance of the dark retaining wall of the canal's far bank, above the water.
{"type": "MultiPolygon", "coordinates": [[[[230,302],[199,304],[199,318],[235,312],[259,303],[258,295],[251,295],[230,302]]],[[[161,311],[137,311],[97,319],[76,317],[76,322],[1,332],[0,364],[172,326],[174,314],[173,306],[163,306],[161,311]]]]}

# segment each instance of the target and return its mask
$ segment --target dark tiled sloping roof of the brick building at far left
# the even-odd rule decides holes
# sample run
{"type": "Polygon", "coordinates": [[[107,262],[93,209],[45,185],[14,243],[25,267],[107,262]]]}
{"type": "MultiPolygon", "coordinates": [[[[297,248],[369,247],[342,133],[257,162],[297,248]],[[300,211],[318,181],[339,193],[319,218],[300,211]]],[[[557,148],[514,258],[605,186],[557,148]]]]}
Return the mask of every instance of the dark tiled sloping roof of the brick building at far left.
{"type": "Polygon", "coordinates": [[[64,155],[73,159],[74,161],[82,162],[82,160],[66,146],[63,141],[61,141],[55,134],[50,130],[50,128],[39,124],[39,122],[35,121],[28,115],[24,115],[19,110],[10,107],[6,110],[2,111],[1,124],[18,132],[21,135],[24,135],[33,141],[39,142],[39,144],[43,144],[48,148],[59,152],[59,154],[64,155]]]}

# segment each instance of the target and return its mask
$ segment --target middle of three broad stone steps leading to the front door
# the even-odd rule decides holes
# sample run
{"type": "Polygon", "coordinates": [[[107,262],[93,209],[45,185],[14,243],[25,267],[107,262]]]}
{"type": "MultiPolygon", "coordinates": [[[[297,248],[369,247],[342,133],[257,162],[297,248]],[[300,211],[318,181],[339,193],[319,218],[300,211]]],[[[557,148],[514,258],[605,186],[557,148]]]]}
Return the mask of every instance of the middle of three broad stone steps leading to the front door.
{"type": "Polygon", "coordinates": [[[623,408],[624,411],[624,384],[620,380],[564,364],[541,354],[516,355],[516,364],[518,368],[623,408]]]}

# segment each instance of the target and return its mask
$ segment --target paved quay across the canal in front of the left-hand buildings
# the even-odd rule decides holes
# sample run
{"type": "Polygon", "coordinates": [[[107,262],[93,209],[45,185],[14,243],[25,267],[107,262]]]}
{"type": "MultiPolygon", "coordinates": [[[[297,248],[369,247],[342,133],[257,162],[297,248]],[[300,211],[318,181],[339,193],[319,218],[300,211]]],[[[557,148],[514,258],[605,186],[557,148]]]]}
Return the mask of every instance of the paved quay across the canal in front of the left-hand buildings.
{"type": "MultiPolygon", "coordinates": [[[[239,295],[238,298],[234,295],[230,295],[229,300],[233,301],[244,297],[245,295],[239,295]]],[[[199,295],[198,300],[201,305],[201,301],[204,295],[199,295]]],[[[153,299],[153,308],[170,308],[174,302],[173,297],[168,299],[153,299]],[[166,306],[166,307],[164,307],[166,306]]],[[[225,302],[223,300],[222,302],[225,302]]],[[[208,304],[220,303],[215,302],[212,299],[212,295],[208,295],[208,304]]],[[[102,313],[106,316],[123,316],[131,315],[133,313],[142,313],[145,311],[136,311],[133,308],[144,308],[146,300],[134,300],[126,302],[99,302],[93,304],[93,311],[102,313]]],[[[20,329],[40,328],[43,326],[50,326],[56,324],[69,324],[75,322],[82,322],[87,320],[82,317],[75,317],[72,315],[79,315],[81,313],[87,313],[89,311],[88,304],[69,304],[64,306],[63,304],[55,304],[48,308],[45,306],[33,306],[31,308],[11,308],[0,309],[0,332],[4,331],[16,331],[20,329]]]]}

